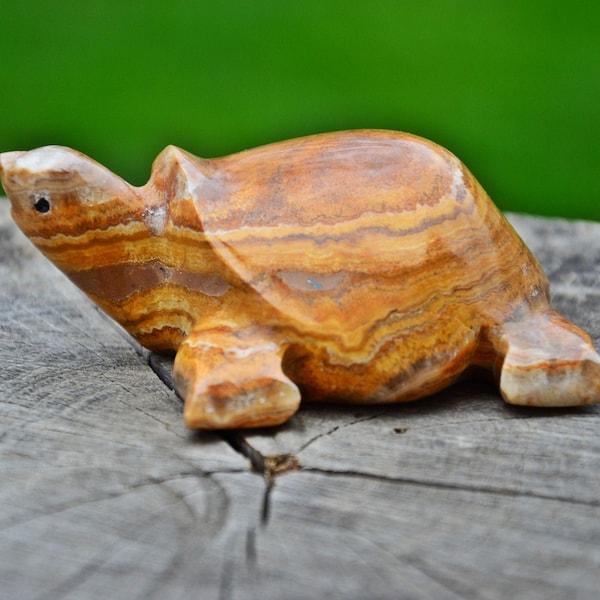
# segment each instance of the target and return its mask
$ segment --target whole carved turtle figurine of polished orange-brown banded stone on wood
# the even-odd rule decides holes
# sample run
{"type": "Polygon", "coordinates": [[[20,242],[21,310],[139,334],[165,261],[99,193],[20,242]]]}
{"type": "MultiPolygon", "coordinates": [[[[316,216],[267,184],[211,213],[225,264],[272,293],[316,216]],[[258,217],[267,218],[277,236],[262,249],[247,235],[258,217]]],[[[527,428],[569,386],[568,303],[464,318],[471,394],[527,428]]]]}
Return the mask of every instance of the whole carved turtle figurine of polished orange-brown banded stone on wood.
{"type": "Polygon", "coordinates": [[[512,404],[600,400],[600,356],[450,152],[348,131],[216,160],[167,147],[134,187],[49,146],[0,157],[23,232],[133,337],[176,350],[191,428],[306,399],[400,402],[487,371],[512,404]]]}

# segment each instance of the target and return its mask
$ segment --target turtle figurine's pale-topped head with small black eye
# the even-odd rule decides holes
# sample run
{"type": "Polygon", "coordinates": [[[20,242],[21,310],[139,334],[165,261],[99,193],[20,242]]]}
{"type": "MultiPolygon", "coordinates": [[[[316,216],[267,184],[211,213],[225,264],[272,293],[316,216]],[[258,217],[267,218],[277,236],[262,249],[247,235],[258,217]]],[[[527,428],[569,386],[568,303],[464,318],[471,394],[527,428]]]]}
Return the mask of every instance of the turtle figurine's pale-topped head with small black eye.
{"type": "Polygon", "coordinates": [[[87,156],[62,146],[0,154],[0,178],[21,230],[36,244],[93,227],[108,203],[133,188],[87,156]]]}

